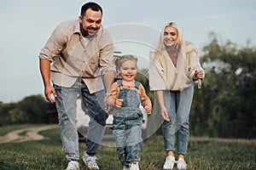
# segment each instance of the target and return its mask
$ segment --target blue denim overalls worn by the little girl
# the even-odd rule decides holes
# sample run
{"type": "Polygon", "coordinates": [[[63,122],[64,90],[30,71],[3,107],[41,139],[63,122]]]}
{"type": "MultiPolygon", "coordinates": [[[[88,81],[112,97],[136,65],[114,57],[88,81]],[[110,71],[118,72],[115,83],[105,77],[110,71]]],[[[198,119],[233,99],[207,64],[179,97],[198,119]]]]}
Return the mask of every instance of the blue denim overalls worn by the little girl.
{"type": "Polygon", "coordinates": [[[137,94],[140,82],[135,82],[135,89],[123,88],[120,80],[118,85],[118,98],[123,99],[123,103],[120,108],[113,109],[113,136],[119,161],[127,166],[132,161],[140,161],[143,120],[143,113],[139,108],[141,101],[137,94]]]}

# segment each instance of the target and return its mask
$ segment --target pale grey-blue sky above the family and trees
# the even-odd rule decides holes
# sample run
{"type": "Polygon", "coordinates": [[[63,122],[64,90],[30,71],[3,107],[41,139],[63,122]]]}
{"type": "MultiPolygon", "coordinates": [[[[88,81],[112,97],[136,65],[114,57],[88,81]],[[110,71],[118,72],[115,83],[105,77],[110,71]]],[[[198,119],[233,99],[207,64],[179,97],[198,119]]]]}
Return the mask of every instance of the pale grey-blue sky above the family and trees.
{"type": "MultiPolygon", "coordinates": [[[[87,1],[9,0],[0,3],[0,101],[18,102],[44,95],[38,54],[55,26],[77,20],[87,1]]],[[[160,31],[175,21],[183,37],[201,49],[210,32],[223,42],[245,47],[256,44],[254,0],[97,0],[103,8],[102,26],[110,32],[116,51],[135,54],[139,67],[148,67],[160,31]]]]}

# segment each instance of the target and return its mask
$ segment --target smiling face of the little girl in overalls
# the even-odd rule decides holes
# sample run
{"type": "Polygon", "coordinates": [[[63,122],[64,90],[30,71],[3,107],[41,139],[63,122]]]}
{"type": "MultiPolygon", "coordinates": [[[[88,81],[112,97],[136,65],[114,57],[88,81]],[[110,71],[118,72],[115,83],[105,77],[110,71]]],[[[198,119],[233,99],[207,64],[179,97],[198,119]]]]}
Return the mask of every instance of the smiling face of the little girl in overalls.
{"type": "Polygon", "coordinates": [[[137,62],[134,60],[127,60],[120,67],[119,71],[122,80],[131,82],[137,76],[137,62]]]}

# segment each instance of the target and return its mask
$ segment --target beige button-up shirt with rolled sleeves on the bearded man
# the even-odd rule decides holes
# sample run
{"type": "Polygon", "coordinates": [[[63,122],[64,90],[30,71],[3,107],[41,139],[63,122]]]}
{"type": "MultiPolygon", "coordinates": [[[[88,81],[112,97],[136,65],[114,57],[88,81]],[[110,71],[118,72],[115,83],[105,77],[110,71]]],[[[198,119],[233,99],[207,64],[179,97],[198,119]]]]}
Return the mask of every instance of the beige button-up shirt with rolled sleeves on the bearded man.
{"type": "Polygon", "coordinates": [[[104,88],[102,75],[115,71],[113,64],[113,41],[107,30],[101,29],[84,43],[79,20],[68,20],[55,28],[40,59],[52,62],[51,81],[69,88],[78,77],[82,77],[90,93],[104,88]]]}

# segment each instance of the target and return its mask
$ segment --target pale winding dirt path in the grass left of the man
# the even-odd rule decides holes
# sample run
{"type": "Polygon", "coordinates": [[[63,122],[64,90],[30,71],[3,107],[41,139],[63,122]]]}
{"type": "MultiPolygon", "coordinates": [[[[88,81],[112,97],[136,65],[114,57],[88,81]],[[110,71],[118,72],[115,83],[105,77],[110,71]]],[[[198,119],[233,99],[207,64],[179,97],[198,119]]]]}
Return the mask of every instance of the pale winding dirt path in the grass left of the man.
{"type": "Polygon", "coordinates": [[[19,142],[25,142],[30,140],[47,139],[47,137],[44,137],[43,135],[38,134],[38,132],[55,128],[55,127],[57,127],[57,125],[47,125],[44,127],[29,127],[24,129],[18,129],[10,133],[7,133],[3,136],[0,136],[0,144],[19,143],[19,142]],[[20,133],[25,133],[25,134],[20,135],[20,133]]]}

